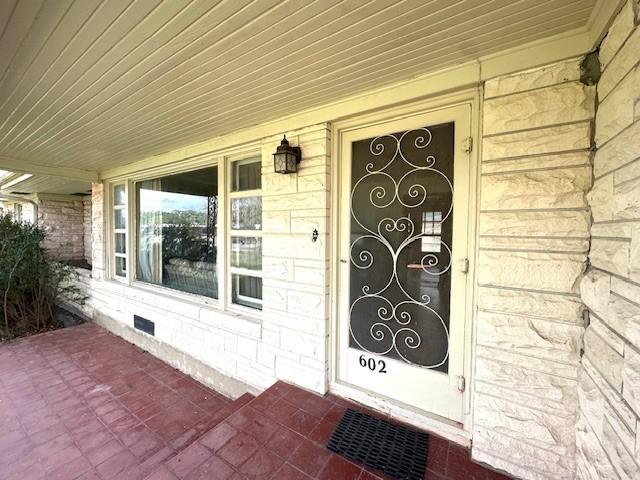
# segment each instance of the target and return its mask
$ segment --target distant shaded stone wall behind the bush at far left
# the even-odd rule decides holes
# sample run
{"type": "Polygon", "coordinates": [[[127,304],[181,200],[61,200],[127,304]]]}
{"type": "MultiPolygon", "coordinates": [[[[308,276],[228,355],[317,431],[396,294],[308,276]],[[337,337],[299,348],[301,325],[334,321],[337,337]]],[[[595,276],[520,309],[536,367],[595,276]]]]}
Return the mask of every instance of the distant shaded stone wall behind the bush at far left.
{"type": "Polygon", "coordinates": [[[38,222],[47,232],[44,247],[58,260],[84,259],[82,200],[38,199],[38,222]]]}

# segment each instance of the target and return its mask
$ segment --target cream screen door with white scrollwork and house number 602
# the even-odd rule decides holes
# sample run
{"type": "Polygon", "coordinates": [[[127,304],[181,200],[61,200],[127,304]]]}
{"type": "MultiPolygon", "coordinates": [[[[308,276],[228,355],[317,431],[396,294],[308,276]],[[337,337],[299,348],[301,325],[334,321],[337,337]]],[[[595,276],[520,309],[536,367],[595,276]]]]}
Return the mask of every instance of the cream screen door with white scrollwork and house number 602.
{"type": "Polygon", "coordinates": [[[336,126],[337,386],[364,403],[457,422],[469,344],[471,107],[336,126]]]}

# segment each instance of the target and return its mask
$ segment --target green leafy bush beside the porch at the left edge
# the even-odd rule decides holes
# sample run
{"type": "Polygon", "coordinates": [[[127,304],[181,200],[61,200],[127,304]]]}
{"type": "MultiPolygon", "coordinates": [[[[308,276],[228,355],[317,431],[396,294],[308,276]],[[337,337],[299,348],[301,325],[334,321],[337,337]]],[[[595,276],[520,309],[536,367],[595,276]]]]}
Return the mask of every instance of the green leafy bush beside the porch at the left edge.
{"type": "Polygon", "coordinates": [[[85,300],[75,283],[75,269],[45,252],[45,236],[37,225],[0,213],[0,338],[57,327],[59,302],[85,300]]]}

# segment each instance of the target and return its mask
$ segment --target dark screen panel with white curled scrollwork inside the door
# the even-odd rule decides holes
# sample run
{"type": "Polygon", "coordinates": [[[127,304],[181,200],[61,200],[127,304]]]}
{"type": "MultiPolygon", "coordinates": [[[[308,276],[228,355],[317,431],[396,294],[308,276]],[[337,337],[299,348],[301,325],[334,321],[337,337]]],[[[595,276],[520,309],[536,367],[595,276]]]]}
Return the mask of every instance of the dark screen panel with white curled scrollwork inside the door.
{"type": "Polygon", "coordinates": [[[453,122],[351,144],[349,347],[447,373],[453,122]]]}

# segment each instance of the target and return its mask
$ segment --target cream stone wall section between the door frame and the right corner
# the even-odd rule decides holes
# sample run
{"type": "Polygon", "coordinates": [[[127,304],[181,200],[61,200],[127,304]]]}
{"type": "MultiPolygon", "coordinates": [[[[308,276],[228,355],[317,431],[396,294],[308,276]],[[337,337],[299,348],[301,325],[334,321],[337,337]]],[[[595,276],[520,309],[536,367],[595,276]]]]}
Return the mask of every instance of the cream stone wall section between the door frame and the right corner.
{"type": "Polygon", "coordinates": [[[572,479],[595,87],[579,58],[484,90],[472,455],[572,479]]]}

